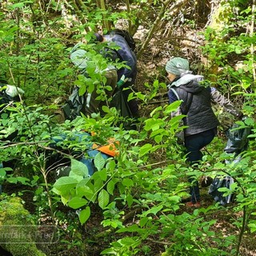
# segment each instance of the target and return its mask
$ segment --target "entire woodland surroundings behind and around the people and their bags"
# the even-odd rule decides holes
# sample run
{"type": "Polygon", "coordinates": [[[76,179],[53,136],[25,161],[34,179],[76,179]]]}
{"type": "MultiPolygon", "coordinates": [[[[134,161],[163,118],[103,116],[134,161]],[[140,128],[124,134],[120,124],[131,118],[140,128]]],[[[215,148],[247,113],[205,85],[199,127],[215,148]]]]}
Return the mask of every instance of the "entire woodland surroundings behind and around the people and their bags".
{"type": "Polygon", "coordinates": [[[254,0],[2,1],[0,78],[25,94],[0,110],[1,255],[256,255],[254,15],[254,0]],[[124,129],[110,106],[104,117],[65,120],[74,86],[99,84],[79,76],[70,50],[114,28],[136,42],[137,129],[124,129]],[[178,103],[167,98],[172,57],[187,58],[246,116],[237,123],[251,128],[250,143],[239,162],[224,152],[236,121],[214,106],[218,137],[198,167],[187,164],[176,136],[181,118],[170,118],[178,103]],[[119,154],[97,154],[89,177],[77,155],[110,138],[119,154]],[[59,177],[63,166],[70,172],[59,177]],[[220,206],[202,187],[202,207],[186,209],[188,174],[230,175],[234,184],[222,192],[234,201],[220,206]]]}

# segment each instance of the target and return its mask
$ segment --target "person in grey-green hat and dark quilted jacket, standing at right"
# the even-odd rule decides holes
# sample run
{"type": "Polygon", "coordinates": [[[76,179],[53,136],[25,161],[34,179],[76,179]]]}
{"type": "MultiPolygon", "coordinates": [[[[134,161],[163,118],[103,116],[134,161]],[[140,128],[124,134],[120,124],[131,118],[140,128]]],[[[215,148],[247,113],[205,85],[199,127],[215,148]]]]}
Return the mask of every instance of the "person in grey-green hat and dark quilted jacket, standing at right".
{"type": "MultiPolygon", "coordinates": [[[[210,144],[217,134],[219,122],[212,110],[211,102],[218,103],[236,118],[242,118],[242,112],[237,110],[215,88],[202,86],[203,76],[192,74],[186,58],[171,58],[166,63],[166,72],[167,78],[170,80],[169,102],[182,100],[178,110],[172,113],[172,117],[180,114],[186,115],[182,119],[183,125],[187,127],[183,130],[183,140],[187,160],[194,165],[202,160],[202,148],[210,144]]],[[[191,183],[191,199],[186,206],[198,208],[201,206],[198,181],[189,177],[189,182],[191,183]]]]}

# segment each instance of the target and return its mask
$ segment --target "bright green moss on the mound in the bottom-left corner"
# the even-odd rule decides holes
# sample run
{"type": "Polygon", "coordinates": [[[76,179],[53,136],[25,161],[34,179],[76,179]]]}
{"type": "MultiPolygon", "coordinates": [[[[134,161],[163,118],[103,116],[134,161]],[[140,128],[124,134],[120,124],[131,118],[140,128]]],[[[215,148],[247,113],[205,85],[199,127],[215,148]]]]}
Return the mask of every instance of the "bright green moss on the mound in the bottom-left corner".
{"type": "Polygon", "coordinates": [[[21,198],[0,202],[0,244],[14,256],[46,256],[35,245],[37,226],[21,198]]]}

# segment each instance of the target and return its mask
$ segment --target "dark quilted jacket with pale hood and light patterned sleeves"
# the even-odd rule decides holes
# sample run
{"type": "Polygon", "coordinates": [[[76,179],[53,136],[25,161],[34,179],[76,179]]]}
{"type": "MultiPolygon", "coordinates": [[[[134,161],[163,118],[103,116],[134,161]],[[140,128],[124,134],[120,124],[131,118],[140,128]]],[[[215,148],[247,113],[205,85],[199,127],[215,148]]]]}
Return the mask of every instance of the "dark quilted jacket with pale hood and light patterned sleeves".
{"type": "Polygon", "coordinates": [[[181,113],[179,114],[186,114],[183,122],[184,125],[189,126],[185,130],[185,136],[214,129],[219,125],[218,118],[211,107],[212,101],[224,107],[230,114],[235,116],[240,114],[229,100],[218,93],[218,90],[209,86],[202,86],[200,84],[203,80],[202,76],[189,74],[187,78],[189,79],[184,76],[183,78],[178,78],[181,80],[175,80],[170,84],[168,93],[170,103],[182,100],[181,113]],[[186,83],[183,83],[182,80],[186,83]]]}

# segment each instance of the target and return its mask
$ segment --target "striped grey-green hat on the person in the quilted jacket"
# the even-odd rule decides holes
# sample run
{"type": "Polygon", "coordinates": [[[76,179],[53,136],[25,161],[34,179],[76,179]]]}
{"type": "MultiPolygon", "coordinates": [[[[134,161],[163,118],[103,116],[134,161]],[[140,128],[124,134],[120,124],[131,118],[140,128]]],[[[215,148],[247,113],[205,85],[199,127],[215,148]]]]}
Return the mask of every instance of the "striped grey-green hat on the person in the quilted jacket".
{"type": "Polygon", "coordinates": [[[170,74],[181,75],[190,72],[190,63],[186,58],[171,58],[169,62],[166,63],[166,71],[170,74]]]}

